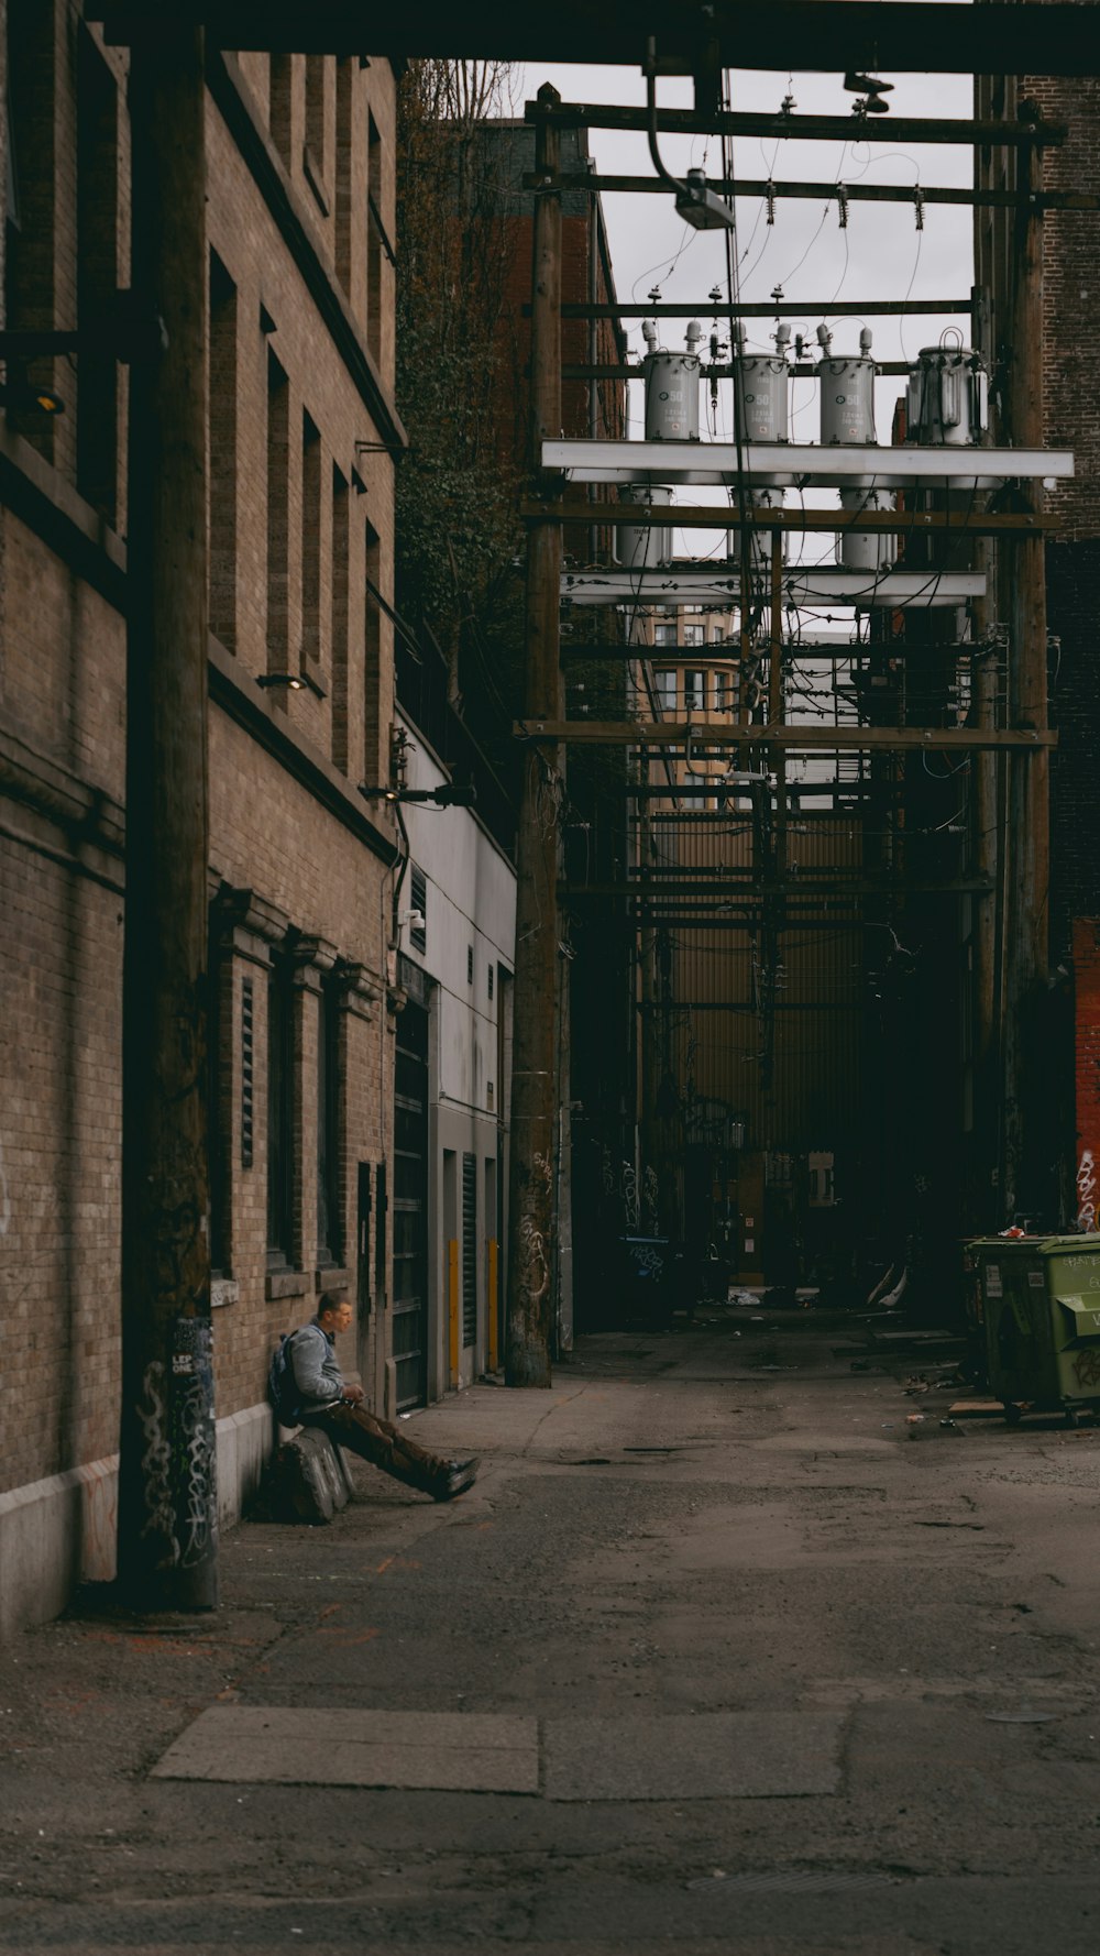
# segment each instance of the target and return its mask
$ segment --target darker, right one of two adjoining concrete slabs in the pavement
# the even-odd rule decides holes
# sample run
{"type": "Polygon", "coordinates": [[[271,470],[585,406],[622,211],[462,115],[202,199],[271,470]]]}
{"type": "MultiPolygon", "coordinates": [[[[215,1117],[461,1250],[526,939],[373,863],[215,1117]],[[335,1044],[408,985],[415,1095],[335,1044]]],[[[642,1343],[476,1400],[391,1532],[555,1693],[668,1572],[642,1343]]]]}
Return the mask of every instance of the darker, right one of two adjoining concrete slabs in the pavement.
{"type": "Polygon", "coordinates": [[[548,1800],[777,1800],[836,1794],[844,1717],[712,1712],[548,1719],[548,1800]]]}

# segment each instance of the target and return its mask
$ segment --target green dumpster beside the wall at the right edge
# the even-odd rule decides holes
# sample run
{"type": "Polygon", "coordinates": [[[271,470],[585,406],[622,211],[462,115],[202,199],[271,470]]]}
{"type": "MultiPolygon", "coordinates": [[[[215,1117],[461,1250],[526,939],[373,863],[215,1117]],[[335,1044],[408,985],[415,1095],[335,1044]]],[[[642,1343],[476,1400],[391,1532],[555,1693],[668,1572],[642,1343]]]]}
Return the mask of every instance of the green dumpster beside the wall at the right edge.
{"type": "Polygon", "coordinates": [[[1100,1236],[983,1236],[971,1254],[1004,1418],[1100,1408],[1100,1236]]]}

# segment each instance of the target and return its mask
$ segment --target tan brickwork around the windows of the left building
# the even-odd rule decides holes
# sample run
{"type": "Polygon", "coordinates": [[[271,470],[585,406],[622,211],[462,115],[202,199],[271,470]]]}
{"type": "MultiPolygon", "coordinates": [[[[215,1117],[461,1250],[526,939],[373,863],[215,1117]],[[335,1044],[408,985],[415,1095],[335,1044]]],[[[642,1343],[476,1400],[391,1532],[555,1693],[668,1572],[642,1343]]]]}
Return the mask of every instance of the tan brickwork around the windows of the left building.
{"type": "MultiPolygon", "coordinates": [[[[45,10],[20,0],[20,12],[33,27],[39,82],[49,76],[41,102],[33,90],[22,98],[31,123],[39,108],[49,123],[39,131],[41,168],[33,145],[23,145],[27,211],[41,205],[43,219],[33,250],[41,260],[45,239],[49,252],[45,262],[16,270],[8,297],[20,295],[18,278],[25,284],[33,270],[39,311],[18,323],[72,325],[80,63],[65,0],[49,0],[45,10]]],[[[92,72],[102,80],[106,67],[119,90],[115,254],[125,284],[125,57],[94,35],[84,45],[100,65],[92,72]]],[[[335,988],[344,1054],[337,1148],[344,1256],[354,1248],[358,1164],[368,1162],[374,1174],[390,1142],[393,1066],[386,1009],[388,845],[384,835],[378,847],[366,845],[354,794],[364,773],[378,778],[393,712],[391,630],[382,616],[368,673],[362,602],[368,526],[380,587],[391,591],[393,577],[393,458],[370,407],[384,401],[393,368],[386,256],[374,395],[364,379],[368,356],[356,364],[348,352],[354,333],[366,344],[370,133],[370,188],[382,223],[393,227],[393,74],[386,61],[366,68],[348,61],[339,74],[333,59],[323,65],[313,92],[315,137],[321,117],[313,158],[303,135],[290,145],[286,164],[270,151],[294,227],[278,219],[262,172],[252,174],[241,149],[241,113],[268,143],[270,63],[227,57],[227,74],[233,88],[239,82],[237,106],[225,96],[207,104],[215,262],[211,618],[223,642],[213,655],[221,679],[209,712],[219,1416],[262,1399],[274,1334],[307,1316],[319,1283],[331,1277],[317,1258],[323,988],[335,988]],[[321,198],[309,182],[313,162],[321,198]],[[333,297],[325,297],[327,289],[333,297]],[[268,442],[270,356],[286,376],[288,409],[276,458],[268,442]],[[272,556],[266,489],[276,466],[286,522],[272,556]],[[282,663],[288,671],[305,663],[315,690],[288,696],[254,687],[254,677],[276,663],[270,628],[278,604],[282,663]],[[309,644],[303,624],[311,628],[309,644]],[[294,1267],[282,1273],[268,1269],[266,1226],[266,1005],[278,956],[294,964],[298,1019],[296,1242],[294,1267]],[[243,1144],[247,986],[251,1158],[243,1144]]],[[[292,63],[292,102],[298,98],[305,113],[301,57],[292,63]]],[[[102,258],[102,227],[94,244],[102,258]]],[[[61,368],[57,381],[65,393],[61,368]]],[[[78,469],[80,403],[72,385],[67,407],[61,432],[37,438],[37,454],[12,419],[0,430],[8,473],[23,471],[27,485],[33,481],[20,514],[0,507],[0,876],[4,915],[12,919],[0,939],[8,1041],[0,1101],[0,1489],[117,1445],[125,387],[117,403],[117,532],[104,522],[110,485],[96,489],[92,507],[88,471],[78,469]]],[[[380,1289],[388,1289],[386,1269],[380,1289]]],[[[388,1356],[380,1311],[360,1324],[358,1342],[348,1336],[348,1365],[356,1354],[370,1367],[364,1383],[378,1399],[388,1356]]]]}

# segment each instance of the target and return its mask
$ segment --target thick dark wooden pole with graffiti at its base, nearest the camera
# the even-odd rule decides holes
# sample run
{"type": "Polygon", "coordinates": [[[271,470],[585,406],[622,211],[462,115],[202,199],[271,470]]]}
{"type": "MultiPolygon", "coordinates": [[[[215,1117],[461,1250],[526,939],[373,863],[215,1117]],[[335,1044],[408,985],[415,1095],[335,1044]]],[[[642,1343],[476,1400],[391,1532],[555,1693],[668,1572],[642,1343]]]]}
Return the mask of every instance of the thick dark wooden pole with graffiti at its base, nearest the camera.
{"type": "Polygon", "coordinates": [[[217,1604],[207,1191],[204,37],[135,27],[119,1586],[217,1604]]]}

